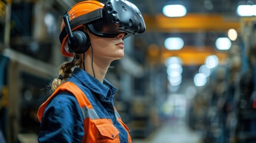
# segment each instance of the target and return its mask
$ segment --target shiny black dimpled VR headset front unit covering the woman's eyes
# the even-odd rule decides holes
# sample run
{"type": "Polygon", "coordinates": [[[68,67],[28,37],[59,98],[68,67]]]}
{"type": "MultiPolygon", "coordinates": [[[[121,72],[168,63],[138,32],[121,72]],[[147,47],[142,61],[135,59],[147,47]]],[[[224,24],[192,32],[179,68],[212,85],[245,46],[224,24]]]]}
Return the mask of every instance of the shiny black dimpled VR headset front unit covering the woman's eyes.
{"type": "Polygon", "coordinates": [[[103,7],[103,18],[88,25],[97,36],[113,38],[125,32],[125,38],[145,32],[146,26],[140,10],[129,1],[109,0],[103,7]]]}

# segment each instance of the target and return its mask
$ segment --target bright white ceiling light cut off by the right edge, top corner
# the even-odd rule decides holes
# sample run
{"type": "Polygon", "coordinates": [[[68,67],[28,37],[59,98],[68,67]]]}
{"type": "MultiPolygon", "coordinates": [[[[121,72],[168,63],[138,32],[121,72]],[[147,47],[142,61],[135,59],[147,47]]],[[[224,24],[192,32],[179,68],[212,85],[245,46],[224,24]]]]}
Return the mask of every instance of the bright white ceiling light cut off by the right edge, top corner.
{"type": "Polygon", "coordinates": [[[242,17],[249,17],[256,15],[256,5],[238,5],[236,13],[242,17]]]}

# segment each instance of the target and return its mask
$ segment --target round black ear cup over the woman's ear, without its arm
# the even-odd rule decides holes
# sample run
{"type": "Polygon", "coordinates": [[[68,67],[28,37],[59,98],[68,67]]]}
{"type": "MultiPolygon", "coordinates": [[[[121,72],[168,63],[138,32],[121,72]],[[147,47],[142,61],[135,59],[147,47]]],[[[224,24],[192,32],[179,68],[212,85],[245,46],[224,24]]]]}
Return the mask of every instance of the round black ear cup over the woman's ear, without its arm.
{"type": "Polygon", "coordinates": [[[87,51],[90,46],[90,38],[87,33],[84,31],[75,31],[72,33],[73,37],[75,37],[75,41],[71,38],[67,39],[67,46],[69,46],[69,50],[71,52],[75,52],[76,54],[83,54],[87,51]]]}

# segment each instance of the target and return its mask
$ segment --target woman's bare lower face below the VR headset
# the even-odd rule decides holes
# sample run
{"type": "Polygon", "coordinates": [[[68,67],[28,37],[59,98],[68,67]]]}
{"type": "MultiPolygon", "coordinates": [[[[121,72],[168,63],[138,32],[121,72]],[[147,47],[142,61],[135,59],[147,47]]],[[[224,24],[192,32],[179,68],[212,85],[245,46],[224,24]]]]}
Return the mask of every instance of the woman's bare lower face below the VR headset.
{"type": "Polygon", "coordinates": [[[103,60],[119,60],[124,57],[124,38],[125,33],[119,33],[115,38],[101,38],[89,33],[91,46],[95,58],[103,60]]]}

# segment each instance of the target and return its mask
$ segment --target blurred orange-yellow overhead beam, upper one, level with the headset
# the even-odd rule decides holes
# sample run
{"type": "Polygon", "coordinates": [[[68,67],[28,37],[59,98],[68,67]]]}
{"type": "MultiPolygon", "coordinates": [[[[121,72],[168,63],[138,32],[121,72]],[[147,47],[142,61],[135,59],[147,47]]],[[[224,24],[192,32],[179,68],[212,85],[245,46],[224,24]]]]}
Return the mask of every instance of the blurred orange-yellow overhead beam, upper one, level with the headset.
{"type": "Polygon", "coordinates": [[[239,29],[239,18],[220,14],[187,14],[184,17],[166,17],[163,14],[143,15],[147,31],[157,32],[216,32],[239,29]]]}

